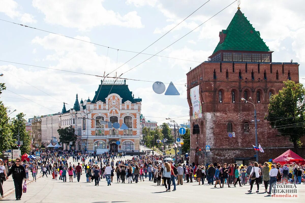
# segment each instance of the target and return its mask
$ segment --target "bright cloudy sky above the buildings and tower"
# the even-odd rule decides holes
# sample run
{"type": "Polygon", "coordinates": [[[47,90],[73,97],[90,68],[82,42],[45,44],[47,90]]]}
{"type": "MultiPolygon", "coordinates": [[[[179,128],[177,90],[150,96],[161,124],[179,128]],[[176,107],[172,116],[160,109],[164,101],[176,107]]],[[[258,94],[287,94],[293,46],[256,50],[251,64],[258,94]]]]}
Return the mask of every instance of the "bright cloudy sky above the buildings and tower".
{"type": "MultiPolygon", "coordinates": [[[[142,51],[206,1],[0,0],[2,20],[106,46],[0,20],[0,60],[10,61],[0,61],[0,73],[4,74],[0,82],[5,82],[8,89],[2,93],[1,100],[10,110],[24,112],[30,118],[60,112],[63,102],[73,105],[76,93],[79,99],[93,99],[100,84],[99,77],[16,63],[93,75],[104,75],[104,71],[108,74],[136,55],[115,49],[142,51]]],[[[233,1],[210,0],[143,53],[158,53],[233,1]]],[[[293,59],[300,63],[300,78],[305,78],[304,5],[302,0],[289,3],[284,0],[242,0],[240,5],[241,11],[274,51],[272,60],[290,62],[293,59]]],[[[178,123],[187,122],[189,107],[185,74],[190,67],[196,67],[212,54],[219,41],[219,31],[227,28],[236,11],[237,1],[158,54],[171,58],[155,56],[145,61],[150,55],[140,54],[117,69],[117,75],[120,75],[145,61],[122,77],[163,83],[172,81],[180,92],[180,96],[158,95],[152,91],[152,82],[128,80],[135,97],[142,98],[145,117],[159,124],[165,117],[175,118],[178,123]]],[[[114,75],[115,72],[110,74],[114,75]]],[[[300,82],[305,80],[300,79],[300,82]]]]}

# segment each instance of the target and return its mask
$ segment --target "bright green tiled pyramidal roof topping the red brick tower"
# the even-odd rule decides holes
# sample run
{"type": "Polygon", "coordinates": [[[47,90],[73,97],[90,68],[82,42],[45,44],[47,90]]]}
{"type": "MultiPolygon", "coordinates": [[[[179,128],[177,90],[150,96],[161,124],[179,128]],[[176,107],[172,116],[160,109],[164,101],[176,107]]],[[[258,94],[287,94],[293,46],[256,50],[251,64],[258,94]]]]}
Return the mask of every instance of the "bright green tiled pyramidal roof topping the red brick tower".
{"type": "Polygon", "coordinates": [[[260,32],[255,31],[240,9],[235,13],[227,30],[219,33],[219,37],[221,40],[213,54],[219,50],[270,51],[260,38],[260,32]]]}

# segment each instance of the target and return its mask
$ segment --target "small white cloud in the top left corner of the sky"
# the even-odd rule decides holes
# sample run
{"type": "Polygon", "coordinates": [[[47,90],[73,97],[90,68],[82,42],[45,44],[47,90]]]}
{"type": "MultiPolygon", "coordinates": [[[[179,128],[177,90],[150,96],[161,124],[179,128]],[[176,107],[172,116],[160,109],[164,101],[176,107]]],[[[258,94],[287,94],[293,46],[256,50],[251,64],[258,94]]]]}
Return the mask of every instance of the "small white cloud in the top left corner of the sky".
{"type": "Polygon", "coordinates": [[[34,19],[29,13],[20,12],[20,6],[17,2],[13,0],[0,0],[0,12],[3,12],[5,15],[14,19],[16,17],[19,18],[21,23],[36,23],[37,21],[34,19]]]}

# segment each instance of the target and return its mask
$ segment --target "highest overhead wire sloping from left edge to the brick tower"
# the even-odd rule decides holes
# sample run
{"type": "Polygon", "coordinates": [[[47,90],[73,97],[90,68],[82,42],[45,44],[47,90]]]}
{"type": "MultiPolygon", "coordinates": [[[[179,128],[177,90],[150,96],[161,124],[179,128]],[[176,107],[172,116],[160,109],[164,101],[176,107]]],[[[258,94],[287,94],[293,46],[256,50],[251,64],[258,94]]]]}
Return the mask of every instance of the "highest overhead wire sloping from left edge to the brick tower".
{"type": "MultiPolygon", "coordinates": [[[[74,37],[69,37],[69,36],[66,36],[66,35],[63,35],[63,34],[58,34],[58,33],[50,32],[50,31],[47,31],[47,30],[42,30],[42,29],[39,29],[39,28],[35,28],[35,27],[31,27],[31,26],[27,26],[27,25],[23,25],[23,24],[19,24],[19,23],[14,23],[12,21],[4,20],[4,19],[0,19],[0,20],[8,22],[8,23],[13,23],[13,24],[16,24],[16,25],[32,28],[32,29],[35,29],[35,30],[40,30],[40,31],[43,31],[43,32],[56,34],[56,35],[59,35],[59,36],[62,36],[62,37],[67,37],[67,38],[70,38],[70,39],[79,40],[79,41],[82,41],[82,42],[87,42],[87,43],[94,44],[94,45],[97,45],[97,46],[107,47],[109,49],[115,49],[115,50],[120,50],[120,51],[125,51],[125,52],[130,52],[130,53],[137,53],[137,54],[153,55],[153,54],[141,53],[141,52],[136,52],[136,51],[128,51],[128,50],[124,50],[124,49],[117,49],[117,48],[109,47],[109,46],[106,46],[106,45],[97,44],[97,43],[89,42],[89,41],[86,41],[86,40],[77,39],[77,38],[74,38],[74,37]]],[[[164,58],[172,58],[172,59],[177,59],[177,60],[183,60],[183,61],[191,61],[191,62],[201,63],[200,61],[192,61],[192,60],[182,59],[182,58],[174,58],[174,57],[159,56],[159,55],[156,55],[156,56],[164,57],[164,58]]]]}

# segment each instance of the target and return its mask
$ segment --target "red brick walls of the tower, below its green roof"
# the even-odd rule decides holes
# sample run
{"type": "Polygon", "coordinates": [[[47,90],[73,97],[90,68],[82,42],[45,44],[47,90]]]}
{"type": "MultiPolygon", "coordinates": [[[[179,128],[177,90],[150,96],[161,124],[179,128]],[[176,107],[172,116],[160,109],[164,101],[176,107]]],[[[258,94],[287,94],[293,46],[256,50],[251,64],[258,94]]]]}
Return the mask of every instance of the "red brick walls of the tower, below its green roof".
{"type": "MultiPolygon", "coordinates": [[[[191,131],[191,162],[203,163],[207,157],[196,156],[196,148],[205,149],[211,146],[210,163],[234,163],[238,157],[253,157],[255,151],[254,106],[241,100],[244,92],[252,97],[257,110],[258,143],[265,153],[259,153],[260,162],[276,158],[293,144],[285,137],[278,137],[276,130],[271,129],[264,120],[268,112],[269,92],[277,94],[288,78],[299,82],[299,64],[297,63],[258,63],[258,62],[204,62],[187,73],[188,104],[192,115],[192,106],[189,97],[190,89],[199,85],[202,99],[203,117],[191,120],[191,128],[198,124],[200,134],[191,131]],[[253,72],[253,73],[252,73],[253,72]],[[216,74],[216,79],[214,79],[216,74]],[[241,78],[239,77],[241,76],[241,78]],[[254,79],[252,79],[252,76],[254,79]],[[231,92],[235,91],[235,102],[232,102],[231,92]],[[219,91],[222,93],[222,102],[219,102],[219,91]],[[257,91],[260,91],[260,103],[257,103],[257,91]],[[232,123],[235,137],[229,138],[227,123],[232,123]],[[244,130],[244,123],[249,123],[249,130],[244,130]],[[278,148],[278,149],[273,149],[278,148]]],[[[305,141],[305,139],[304,139],[305,141]]],[[[304,154],[304,148],[299,150],[304,154]]]]}

